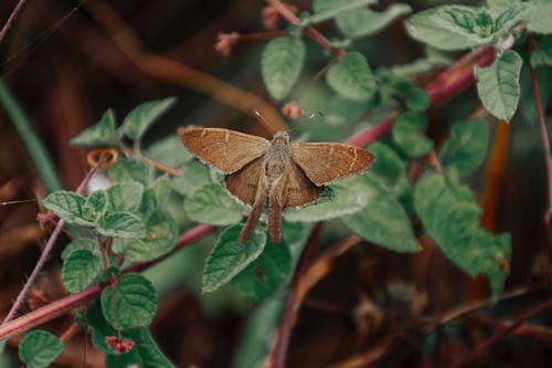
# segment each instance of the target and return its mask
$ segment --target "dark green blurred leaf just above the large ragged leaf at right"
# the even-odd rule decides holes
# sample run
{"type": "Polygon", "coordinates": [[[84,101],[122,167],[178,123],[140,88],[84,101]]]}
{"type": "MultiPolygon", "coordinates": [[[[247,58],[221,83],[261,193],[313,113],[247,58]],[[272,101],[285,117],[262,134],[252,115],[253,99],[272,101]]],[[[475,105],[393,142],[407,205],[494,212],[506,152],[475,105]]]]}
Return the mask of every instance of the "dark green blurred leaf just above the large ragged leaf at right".
{"type": "Polygon", "coordinates": [[[439,151],[440,164],[456,168],[463,177],[473,174],[485,159],[488,139],[489,124],[485,119],[454,124],[439,151]]]}

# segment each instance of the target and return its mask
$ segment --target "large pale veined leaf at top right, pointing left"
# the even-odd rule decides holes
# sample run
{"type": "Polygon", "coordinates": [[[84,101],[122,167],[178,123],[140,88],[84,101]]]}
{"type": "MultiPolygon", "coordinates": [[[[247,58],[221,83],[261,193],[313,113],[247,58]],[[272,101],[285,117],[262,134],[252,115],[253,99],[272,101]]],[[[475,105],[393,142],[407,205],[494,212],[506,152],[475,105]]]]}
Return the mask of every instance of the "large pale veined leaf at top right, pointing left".
{"type": "Polygon", "coordinates": [[[485,9],[443,6],[418,12],[406,20],[406,31],[421,42],[440,50],[461,50],[492,40],[492,18],[485,9]]]}

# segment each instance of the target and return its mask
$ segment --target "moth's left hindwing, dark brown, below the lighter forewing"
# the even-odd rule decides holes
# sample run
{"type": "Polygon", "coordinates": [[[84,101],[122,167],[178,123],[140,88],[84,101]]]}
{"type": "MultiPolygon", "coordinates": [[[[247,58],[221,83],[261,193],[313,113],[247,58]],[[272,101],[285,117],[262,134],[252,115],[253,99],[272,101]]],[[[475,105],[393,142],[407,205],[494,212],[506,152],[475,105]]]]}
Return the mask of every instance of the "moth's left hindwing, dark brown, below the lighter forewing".
{"type": "Polygon", "coordinates": [[[226,175],[224,182],[226,190],[245,204],[253,206],[258,187],[258,177],[263,166],[263,158],[256,158],[240,170],[226,175]]]}

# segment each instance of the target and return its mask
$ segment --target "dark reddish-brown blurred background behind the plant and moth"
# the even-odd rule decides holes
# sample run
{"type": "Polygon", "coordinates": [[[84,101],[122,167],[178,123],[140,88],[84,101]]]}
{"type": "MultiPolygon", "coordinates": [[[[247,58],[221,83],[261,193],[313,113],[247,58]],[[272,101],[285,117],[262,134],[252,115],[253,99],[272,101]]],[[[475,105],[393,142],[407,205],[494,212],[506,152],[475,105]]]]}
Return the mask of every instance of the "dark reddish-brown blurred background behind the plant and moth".
{"type": "MultiPolygon", "coordinates": [[[[405,2],[414,10],[445,3],[405,2]]],[[[15,0],[0,2],[0,24],[4,24],[17,3],[15,0]]],[[[390,3],[381,1],[379,7],[384,9],[390,3]]],[[[294,1],[294,4],[299,10],[310,9],[310,1],[294,1]]],[[[163,77],[167,70],[162,67],[137,66],[132,54],[120,48],[145,48],[269,102],[259,72],[265,42],[262,38],[240,42],[229,56],[215,51],[220,32],[263,32],[261,13],[265,6],[258,0],[29,0],[0,42],[0,76],[52,156],[63,187],[74,190],[87,169],[86,151],[70,146],[68,141],[95,124],[109,107],[121,119],[142,102],[178,97],[176,107],[148,133],[150,141],[174,135],[178,126],[189,124],[231,127],[268,136],[268,132],[247,114],[214,101],[202,87],[209,84],[208,80],[199,77],[184,86],[170,76],[163,77]],[[120,25],[128,27],[136,39],[125,38],[126,33],[117,28],[120,25]],[[136,40],[141,44],[136,45],[136,40]]],[[[285,27],[282,23],[279,29],[285,27]]],[[[331,24],[319,29],[329,36],[335,32],[331,24]]],[[[325,64],[320,61],[323,51],[312,42],[308,46],[304,88],[309,87],[309,77],[325,64]]],[[[404,64],[423,53],[423,48],[407,38],[401,20],[363,40],[357,49],[367,55],[374,69],[404,64]]],[[[550,113],[552,76],[546,70],[539,73],[550,113]]],[[[435,73],[417,82],[424,83],[432,75],[435,73]]],[[[522,76],[522,91],[530,91],[527,75],[522,76]]],[[[323,104],[323,94],[318,98],[314,105],[323,104]]],[[[499,186],[493,187],[499,190],[495,193],[496,220],[491,230],[512,234],[511,275],[507,290],[526,288],[522,296],[509,298],[492,311],[505,317],[516,316],[545,295],[542,288],[533,291],[534,285],[545,280],[550,242],[542,223],[546,182],[533,104],[532,95],[522,93],[520,109],[507,135],[506,167],[499,186]]],[[[431,119],[446,122],[446,126],[456,118],[466,117],[477,106],[471,88],[433,109],[431,119]]],[[[307,115],[317,113],[308,111],[307,115]]],[[[316,122],[302,126],[298,134],[310,134],[309,137],[316,140],[343,140],[359,126],[378,123],[380,117],[372,114],[360,119],[360,125],[343,128],[317,115],[316,122]]],[[[432,125],[431,132],[440,136],[446,134],[446,127],[432,125]]],[[[484,166],[470,182],[479,193],[487,186],[485,170],[484,166]]],[[[0,107],[0,202],[42,199],[46,193],[22,133],[0,107]]],[[[43,209],[34,201],[0,206],[0,315],[9,311],[47,239],[47,230],[42,230],[36,222],[39,212],[43,209]]],[[[339,222],[330,222],[323,230],[321,246],[332,245],[346,235],[339,222]]],[[[147,272],[160,293],[152,334],[161,350],[178,367],[229,367],[238,351],[247,350],[241,341],[245,323],[256,305],[231,287],[208,296],[199,292],[204,257],[214,240],[214,235],[208,236],[147,272]]],[[[60,252],[61,246],[31,295],[31,302],[36,305],[64,296],[60,252]]],[[[307,296],[293,332],[287,366],[353,367],[344,362],[355,356],[364,359],[358,367],[364,364],[446,366],[497,326],[486,323],[481,314],[427,334],[424,327],[427,318],[486,295],[485,281],[470,280],[431,244],[421,253],[405,255],[362,243],[341,255],[330,274],[307,296]],[[391,344],[390,336],[397,335],[400,339],[392,339],[391,344]]],[[[23,312],[32,308],[32,303],[23,312]]],[[[540,322],[545,325],[549,317],[541,315],[540,322]]],[[[71,320],[72,316],[60,317],[46,327],[61,332],[71,320]]],[[[2,362],[6,367],[18,366],[13,356],[18,340],[13,338],[8,345],[2,362]]],[[[474,366],[544,367],[552,357],[551,343],[552,330],[545,328],[529,337],[511,336],[474,366]]],[[[81,366],[84,344],[84,335],[75,335],[56,366],[81,366]]],[[[103,356],[91,348],[87,361],[89,366],[100,366],[103,356]]]]}

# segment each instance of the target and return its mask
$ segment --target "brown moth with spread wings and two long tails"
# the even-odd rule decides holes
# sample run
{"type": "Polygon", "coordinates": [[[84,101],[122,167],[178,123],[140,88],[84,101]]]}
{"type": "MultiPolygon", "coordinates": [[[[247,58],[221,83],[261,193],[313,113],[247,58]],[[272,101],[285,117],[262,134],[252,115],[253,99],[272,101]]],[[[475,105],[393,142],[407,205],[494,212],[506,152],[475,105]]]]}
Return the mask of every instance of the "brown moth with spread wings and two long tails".
{"type": "Polygon", "coordinates": [[[182,127],[178,134],[183,145],[200,160],[226,176],[226,190],[252,211],[240,234],[245,242],[268,199],[268,234],[282,240],[282,212],[316,201],[323,186],[367,169],[374,156],[369,151],[339,143],[291,144],[285,132],[272,140],[248,134],[221,129],[182,127]]]}

